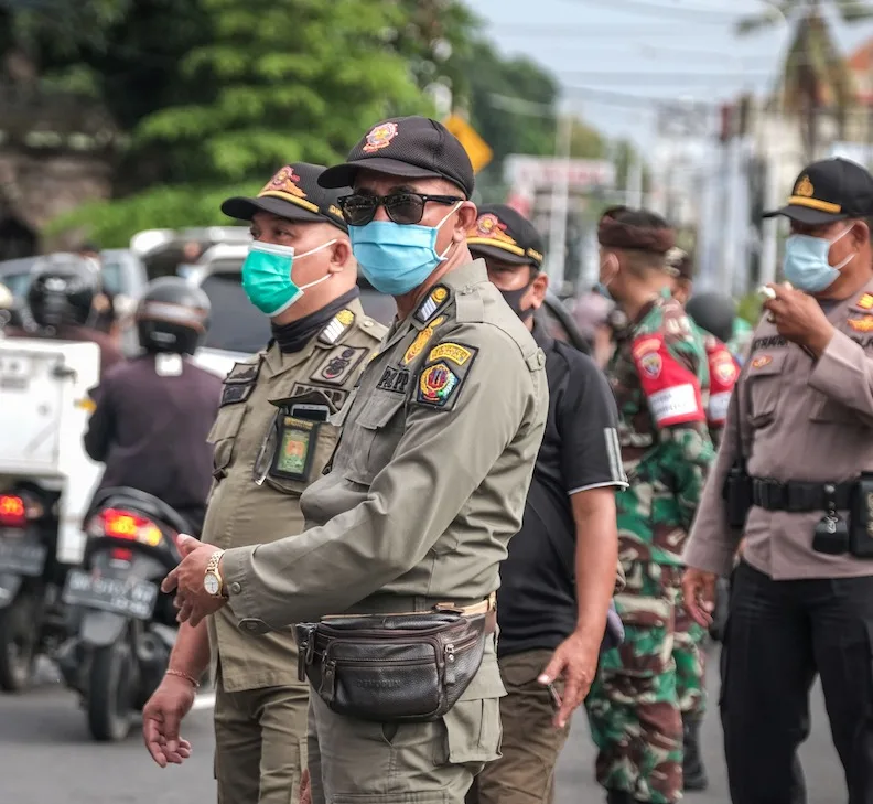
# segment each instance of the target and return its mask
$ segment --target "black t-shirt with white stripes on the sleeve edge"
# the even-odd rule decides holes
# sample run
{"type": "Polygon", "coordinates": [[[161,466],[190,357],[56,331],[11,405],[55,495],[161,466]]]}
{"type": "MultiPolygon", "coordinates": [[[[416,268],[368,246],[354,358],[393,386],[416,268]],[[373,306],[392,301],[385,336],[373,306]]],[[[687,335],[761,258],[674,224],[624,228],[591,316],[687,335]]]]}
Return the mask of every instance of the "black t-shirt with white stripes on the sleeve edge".
{"type": "Polygon", "coordinates": [[[500,565],[498,654],[553,650],[575,629],[575,521],[572,494],[626,484],[618,412],[603,373],[535,322],[546,353],[549,416],[521,530],[500,565]]]}

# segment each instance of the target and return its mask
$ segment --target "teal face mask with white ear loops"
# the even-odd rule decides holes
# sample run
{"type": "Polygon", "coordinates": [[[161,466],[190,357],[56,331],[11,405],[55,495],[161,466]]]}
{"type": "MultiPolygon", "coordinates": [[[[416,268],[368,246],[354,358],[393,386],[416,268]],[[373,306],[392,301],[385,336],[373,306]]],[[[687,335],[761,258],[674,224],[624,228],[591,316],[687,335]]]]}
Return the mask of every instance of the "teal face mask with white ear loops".
{"type": "Polygon", "coordinates": [[[334,243],[335,239],[328,240],[317,248],[294,257],[294,249],[291,246],[277,246],[256,240],[249,247],[248,257],[242,262],[242,290],[246,291],[249,301],[265,315],[270,318],[279,315],[298,301],[304,290],[331,277],[330,274],[325,274],[314,282],[298,286],[291,277],[294,259],[309,257],[334,243]]]}

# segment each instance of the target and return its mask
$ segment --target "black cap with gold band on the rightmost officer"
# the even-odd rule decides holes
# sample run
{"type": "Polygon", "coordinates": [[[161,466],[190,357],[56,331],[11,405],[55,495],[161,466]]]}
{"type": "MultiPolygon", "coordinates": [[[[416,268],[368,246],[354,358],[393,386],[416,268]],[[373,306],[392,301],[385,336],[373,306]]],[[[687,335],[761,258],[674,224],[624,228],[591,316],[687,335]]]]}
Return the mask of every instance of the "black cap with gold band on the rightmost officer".
{"type": "Polygon", "coordinates": [[[764,217],[785,215],[809,226],[873,215],[873,176],[848,159],[812,162],[797,176],[788,203],[764,217]]]}

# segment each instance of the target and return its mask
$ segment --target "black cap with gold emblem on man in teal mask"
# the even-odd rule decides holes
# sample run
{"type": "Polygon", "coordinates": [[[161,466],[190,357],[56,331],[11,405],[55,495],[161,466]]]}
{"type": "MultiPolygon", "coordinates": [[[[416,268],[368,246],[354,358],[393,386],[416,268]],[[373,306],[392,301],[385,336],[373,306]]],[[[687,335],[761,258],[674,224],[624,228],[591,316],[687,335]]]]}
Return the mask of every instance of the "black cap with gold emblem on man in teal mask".
{"type": "Polygon", "coordinates": [[[222,212],[239,221],[251,221],[256,212],[270,212],[299,223],[332,223],[348,232],[337,200],[342,193],[319,184],[321,164],[292,162],[263,186],[257,197],[237,196],[222,204],[222,212]]]}

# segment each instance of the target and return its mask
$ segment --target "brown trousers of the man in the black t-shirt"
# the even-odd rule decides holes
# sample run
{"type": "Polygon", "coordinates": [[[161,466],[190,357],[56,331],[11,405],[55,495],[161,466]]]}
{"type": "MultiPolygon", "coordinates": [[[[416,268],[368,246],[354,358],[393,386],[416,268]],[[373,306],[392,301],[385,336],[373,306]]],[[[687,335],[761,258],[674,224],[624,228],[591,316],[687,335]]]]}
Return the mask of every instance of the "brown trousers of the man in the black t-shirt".
{"type": "MultiPolygon", "coordinates": [[[[506,697],[500,698],[503,757],[476,776],[466,804],[550,804],[554,767],[570,733],[552,725],[551,694],[537,682],[552,651],[532,650],[500,658],[506,697]]],[[[563,694],[563,680],[554,682],[563,694]]]]}

